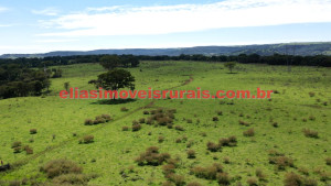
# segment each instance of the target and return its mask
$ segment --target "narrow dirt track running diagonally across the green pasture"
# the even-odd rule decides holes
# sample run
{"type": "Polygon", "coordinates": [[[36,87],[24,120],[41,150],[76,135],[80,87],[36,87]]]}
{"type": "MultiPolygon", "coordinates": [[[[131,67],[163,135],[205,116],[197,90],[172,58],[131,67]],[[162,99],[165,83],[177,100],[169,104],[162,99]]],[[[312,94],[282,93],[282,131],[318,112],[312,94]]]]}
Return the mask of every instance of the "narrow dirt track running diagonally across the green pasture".
{"type": "MultiPolygon", "coordinates": [[[[184,83],[182,83],[181,85],[178,85],[178,86],[174,86],[174,87],[170,87],[170,88],[167,88],[167,89],[163,89],[163,90],[170,90],[170,89],[179,88],[179,87],[189,85],[189,84],[192,83],[192,81],[193,81],[193,76],[190,75],[190,79],[186,79],[186,80],[185,80],[184,83]]],[[[17,162],[14,162],[14,163],[11,165],[11,166],[12,166],[11,171],[13,171],[13,169],[15,169],[15,168],[19,168],[19,167],[21,167],[21,166],[28,164],[30,161],[35,160],[35,158],[40,157],[41,155],[44,155],[44,154],[46,154],[46,153],[49,153],[49,152],[51,152],[51,151],[53,151],[53,150],[63,147],[63,146],[65,146],[66,144],[73,142],[73,141],[77,141],[78,139],[81,139],[81,138],[83,138],[83,136],[85,136],[85,135],[87,135],[87,134],[92,134],[92,133],[94,133],[94,132],[97,132],[97,131],[104,129],[105,127],[107,127],[107,125],[110,124],[110,123],[114,123],[114,122],[117,122],[117,121],[119,121],[119,120],[122,120],[122,119],[125,119],[125,118],[127,118],[127,117],[129,117],[129,116],[131,116],[131,114],[134,114],[134,113],[136,113],[136,112],[138,112],[138,111],[140,111],[140,110],[143,110],[143,109],[147,109],[147,108],[151,108],[151,107],[153,107],[154,102],[156,102],[156,101],[152,100],[152,101],[149,102],[148,105],[146,105],[146,106],[143,106],[143,107],[136,108],[135,110],[131,110],[131,111],[127,112],[126,114],[124,114],[124,116],[121,116],[121,117],[119,117],[119,118],[117,118],[117,119],[115,119],[115,120],[111,120],[111,121],[109,121],[109,122],[107,122],[107,123],[103,123],[103,124],[99,125],[98,128],[92,129],[92,130],[89,130],[89,131],[87,131],[87,132],[85,132],[85,133],[82,133],[81,135],[77,135],[77,136],[75,136],[75,138],[67,139],[67,140],[65,140],[65,141],[62,141],[61,143],[58,143],[58,144],[56,144],[56,145],[49,146],[47,149],[45,149],[45,150],[43,150],[43,151],[41,151],[41,152],[38,152],[38,153],[33,154],[33,155],[30,155],[30,156],[26,157],[26,158],[17,161],[17,162]]]]}

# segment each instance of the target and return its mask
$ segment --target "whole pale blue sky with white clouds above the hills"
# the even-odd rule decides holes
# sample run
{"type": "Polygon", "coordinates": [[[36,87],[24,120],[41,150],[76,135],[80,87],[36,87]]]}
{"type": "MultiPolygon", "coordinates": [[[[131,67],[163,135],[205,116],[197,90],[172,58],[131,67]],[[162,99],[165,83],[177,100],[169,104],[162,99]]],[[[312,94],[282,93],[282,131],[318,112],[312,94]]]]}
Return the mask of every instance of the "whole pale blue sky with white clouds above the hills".
{"type": "Polygon", "coordinates": [[[0,54],[331,41],[331,0],[0,0],[0,54]]]}

